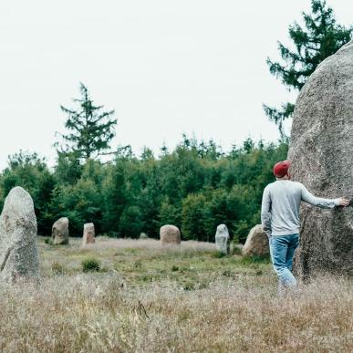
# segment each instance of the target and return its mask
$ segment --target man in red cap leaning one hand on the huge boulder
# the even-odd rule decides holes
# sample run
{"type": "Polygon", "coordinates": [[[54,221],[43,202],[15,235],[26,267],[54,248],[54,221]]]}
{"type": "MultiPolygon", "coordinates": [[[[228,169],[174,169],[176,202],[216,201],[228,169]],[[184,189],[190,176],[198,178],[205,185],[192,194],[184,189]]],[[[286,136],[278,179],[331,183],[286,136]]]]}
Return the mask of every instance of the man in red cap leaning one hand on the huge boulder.
{"type": "Polygon", "coordinates": [[[304,201],[321,208],[348,206],[349,201],[315,197],[300,182],[291,182],[290,161],[275,164],[275,182],[265,187],[261,209],[264,231],[269,237],[270,253],[275,273],[279,278],[279,292],[284,287],[296,286],[292,275],[292,261],[299,244],[299,206],[304,201]]]}

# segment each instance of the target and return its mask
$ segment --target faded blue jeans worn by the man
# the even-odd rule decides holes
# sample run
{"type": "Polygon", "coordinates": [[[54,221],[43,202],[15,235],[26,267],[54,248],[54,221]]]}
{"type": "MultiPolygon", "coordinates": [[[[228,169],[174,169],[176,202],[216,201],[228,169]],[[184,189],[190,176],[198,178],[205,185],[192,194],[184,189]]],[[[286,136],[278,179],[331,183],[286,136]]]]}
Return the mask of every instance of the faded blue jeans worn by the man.
{"type": "Polygon", "coordinates": [[[298,244],[299,234],[272,235],[270,237],[271,260],[279,278],[279,291],[283,287],[296,286],[296,278],[291,271],[293,255],[298,244]]]}

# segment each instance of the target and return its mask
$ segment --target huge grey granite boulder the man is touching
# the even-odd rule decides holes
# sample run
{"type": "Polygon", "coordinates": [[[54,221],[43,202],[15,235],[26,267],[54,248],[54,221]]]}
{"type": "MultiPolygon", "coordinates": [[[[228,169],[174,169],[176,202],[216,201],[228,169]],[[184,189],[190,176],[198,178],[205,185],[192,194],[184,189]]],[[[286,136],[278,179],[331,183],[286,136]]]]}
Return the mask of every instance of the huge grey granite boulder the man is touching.
{"type": "MultiPolygon", "coordinates": [[[[300,91],[288,159],[293,180],[317,196],[353,196],[353,42],[327,57],[300,91]]],[[[353,275],[353,208],[301,209],[295,270],[353,275]]]]}

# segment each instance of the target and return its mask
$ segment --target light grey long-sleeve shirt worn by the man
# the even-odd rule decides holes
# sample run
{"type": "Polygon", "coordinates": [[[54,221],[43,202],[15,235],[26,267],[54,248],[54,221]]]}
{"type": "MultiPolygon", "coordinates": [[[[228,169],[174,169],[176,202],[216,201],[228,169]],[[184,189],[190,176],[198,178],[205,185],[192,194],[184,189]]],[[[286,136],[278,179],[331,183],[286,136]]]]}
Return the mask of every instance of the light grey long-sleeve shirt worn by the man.
{"type": "Polygon", "coordinates": [[[268,236],[298,234],[299,207],[304,201],[321,208],[339,205],[339,199],[321,199],[306,190],[300,182],[281,180],[265,187],[261,207],[261,221],[268,236]]]}

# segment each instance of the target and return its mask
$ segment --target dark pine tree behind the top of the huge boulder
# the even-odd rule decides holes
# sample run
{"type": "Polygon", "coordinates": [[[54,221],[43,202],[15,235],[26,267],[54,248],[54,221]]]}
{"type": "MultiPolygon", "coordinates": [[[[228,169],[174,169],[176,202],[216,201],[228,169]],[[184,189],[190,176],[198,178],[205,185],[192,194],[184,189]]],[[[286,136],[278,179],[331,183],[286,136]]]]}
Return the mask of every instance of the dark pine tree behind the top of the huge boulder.
{"type": "MultiPolygon", "coordinates": [[[[289,90],[300,90],[318,64],[335,54],[352,37],[353,27],[337,25],[333,9],[327,6],[326,0],[311,0],[311,10],[312,14],[302,13],[304,28],[296,22],[289,26],[294,50],[278,42],[278,50],[285,63],[267,58],[271,74],[280,78],[289,90]]],[[[295,105],[288,102],[276,109],[264,104],[264,109],[267,117],[278,126],[281,136],[285,137],[283,122],[293,115],[295,105]]]]}

